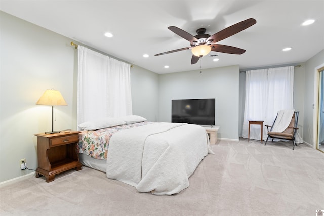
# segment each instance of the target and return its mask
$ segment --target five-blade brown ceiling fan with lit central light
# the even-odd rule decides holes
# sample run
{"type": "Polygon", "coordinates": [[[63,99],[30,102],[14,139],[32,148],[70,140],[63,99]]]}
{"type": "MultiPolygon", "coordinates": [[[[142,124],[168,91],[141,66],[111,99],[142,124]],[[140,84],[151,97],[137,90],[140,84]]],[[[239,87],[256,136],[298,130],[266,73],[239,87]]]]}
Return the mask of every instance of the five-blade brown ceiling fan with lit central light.
{"type": "Polygon", "coordinates": [[[196,36],[192,36],[188,32],[175,27],[175,26],[169,26],[168,29],[173,31],[174,33],[178,34],[180,37],[188,40],[190,42],[190,47],[180,48],[177,50],[171,50],[159,54],[155,54],[155,56],[164,55],[168,53],[174,53],[182,50],[189,50],[191,49],[192,57],[191,57],[191,64],[195,64],[198,62],[199,58],[207,55],[210,51],[216,51],[221,53],[229,53],[229,54],[242,54],[245,52],[245,50],[227,46],[227,45],[221,45],[216,44],[218,41],[223,40],[227,37],[230,37],[244,29],[249,28],[250,26],[256,24],[257,21],[253,18],[241,21],[239,23],[236,23],[234,25],[231,25],[212,36],[209,34],[206,34],[205,28],[199,28],[196,32],[196,36]]]}

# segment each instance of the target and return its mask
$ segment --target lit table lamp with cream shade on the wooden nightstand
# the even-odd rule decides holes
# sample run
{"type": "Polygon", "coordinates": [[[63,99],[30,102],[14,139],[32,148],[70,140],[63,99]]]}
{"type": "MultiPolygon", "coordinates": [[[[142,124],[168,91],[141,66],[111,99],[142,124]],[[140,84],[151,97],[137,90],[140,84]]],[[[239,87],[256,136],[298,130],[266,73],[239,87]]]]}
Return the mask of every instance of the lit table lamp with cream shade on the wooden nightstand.
{"type": "Polygon", "coordinates": [[[48,89],[44,92],[41,98],[36,103],[37,105],[48,105],[52,106],[52,131],[45,132],[45,134],[59,133],[59,131],[54,131],[53,129],[53,110],[54,106],[66,106],[66,102],[58,90],[48,89]]]}

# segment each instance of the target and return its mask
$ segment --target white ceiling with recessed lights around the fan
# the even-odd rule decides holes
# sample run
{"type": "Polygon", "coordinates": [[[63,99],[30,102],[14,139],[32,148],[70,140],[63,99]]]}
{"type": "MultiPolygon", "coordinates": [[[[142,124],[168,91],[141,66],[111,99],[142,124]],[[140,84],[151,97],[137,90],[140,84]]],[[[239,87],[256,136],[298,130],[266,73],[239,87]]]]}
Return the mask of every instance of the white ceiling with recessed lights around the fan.
{"type": "Polygon", "coordinates": [[[0,10],[159,74],[198,70],[200,63],[203,69],[294,64],[324,49],[323,0],[0,0],[0,10]],[[218,42],[245,49],[242,55],[212,51],[219,61],[207,55],[194,65],[190,50],[154,56],[190,46],[168,26],[192,35],[203,27],[212,35],[248,18],[257,23],[218,42]],[[301,26],[307,19],[316,22],[301,26]]]}

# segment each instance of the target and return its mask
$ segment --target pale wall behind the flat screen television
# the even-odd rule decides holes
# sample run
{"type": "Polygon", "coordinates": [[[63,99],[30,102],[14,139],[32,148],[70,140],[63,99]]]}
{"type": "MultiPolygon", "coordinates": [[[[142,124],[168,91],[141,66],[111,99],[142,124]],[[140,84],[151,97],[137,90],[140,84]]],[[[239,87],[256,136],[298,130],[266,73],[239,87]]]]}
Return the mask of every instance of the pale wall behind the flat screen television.
{"type": "Polygon", "coordinates": [[[238,140],[238,66],[160,75],[160,121],[171,122],[172,99],[215,98],[218,137],[238,140]]]}

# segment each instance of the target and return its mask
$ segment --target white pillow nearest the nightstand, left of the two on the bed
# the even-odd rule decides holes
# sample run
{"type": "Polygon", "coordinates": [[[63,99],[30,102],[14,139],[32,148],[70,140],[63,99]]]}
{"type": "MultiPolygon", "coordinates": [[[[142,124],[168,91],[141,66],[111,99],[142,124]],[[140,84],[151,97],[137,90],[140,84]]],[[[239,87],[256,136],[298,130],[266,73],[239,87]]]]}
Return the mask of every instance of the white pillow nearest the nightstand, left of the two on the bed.
{"type": "Polygon", "coordinates": [[[119,119],[119,118],[103,118],[100,120],[95,121],[87,121],[82,124],[78,125],[78,128],[80,130],[87,130],[87,131],[94,131],[97,129],[107,128],[107,127],[113,127],[125,124],[125,121],[119,119]]]}

